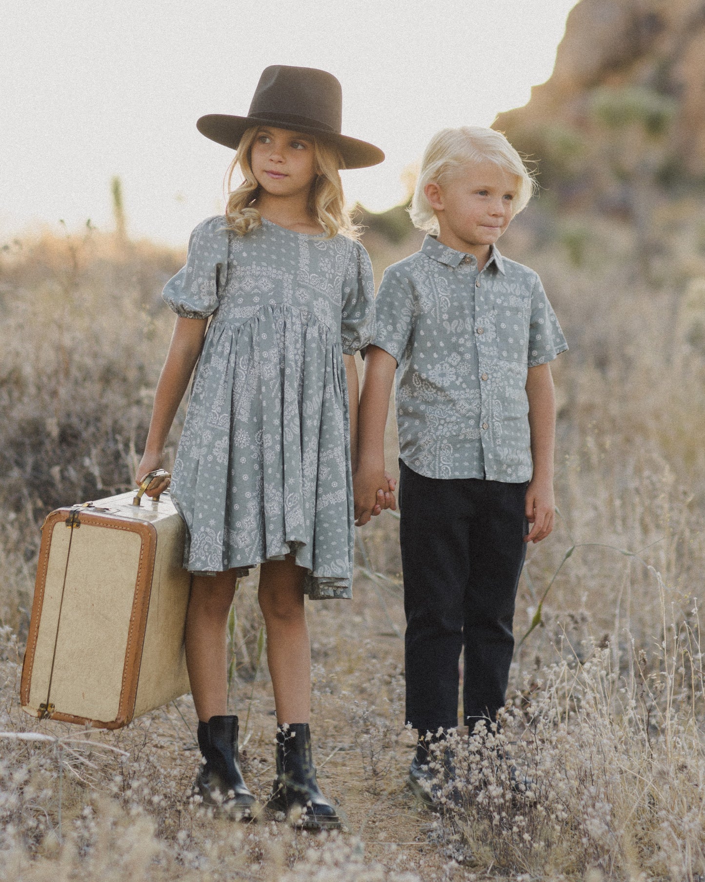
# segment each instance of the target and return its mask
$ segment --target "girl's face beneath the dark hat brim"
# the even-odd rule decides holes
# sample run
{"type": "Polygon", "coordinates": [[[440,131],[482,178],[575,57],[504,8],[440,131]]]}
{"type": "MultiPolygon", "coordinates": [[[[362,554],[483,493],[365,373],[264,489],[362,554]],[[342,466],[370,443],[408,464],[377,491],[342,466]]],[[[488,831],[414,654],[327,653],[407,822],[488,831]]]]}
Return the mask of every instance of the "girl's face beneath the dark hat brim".
{"type": "Polygon", "coordinates": [[[272,196],[308,193],[315,178],[314,139],[288,129],[262,128],[250,156],[257,183],[272,196]]]}

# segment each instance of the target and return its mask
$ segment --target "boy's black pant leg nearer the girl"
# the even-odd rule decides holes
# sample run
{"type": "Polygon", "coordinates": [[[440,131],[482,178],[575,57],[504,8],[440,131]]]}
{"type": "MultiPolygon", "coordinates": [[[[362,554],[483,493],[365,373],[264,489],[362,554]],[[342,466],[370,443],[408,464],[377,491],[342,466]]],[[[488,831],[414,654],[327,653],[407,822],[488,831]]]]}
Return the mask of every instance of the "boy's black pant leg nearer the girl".
{"type": "Polygon", "coordinates": [[[421,731],[457,726],[470,567],[464,484],[418,475],[400,461],[406,720],[421,731]]]}

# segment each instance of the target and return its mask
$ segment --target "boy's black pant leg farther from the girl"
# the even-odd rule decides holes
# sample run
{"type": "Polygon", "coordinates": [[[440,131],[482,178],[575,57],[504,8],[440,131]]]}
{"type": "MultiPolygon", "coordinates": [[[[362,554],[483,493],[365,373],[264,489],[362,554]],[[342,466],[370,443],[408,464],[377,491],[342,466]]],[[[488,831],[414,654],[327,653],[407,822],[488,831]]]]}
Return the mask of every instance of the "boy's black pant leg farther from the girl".
{"type": "Polygon", "coordinates": [[[512,624],[526,543],[526,484],[479,482],[464,609],[464,719],[470,730],[504,706],[514,654],[512,624]]]}

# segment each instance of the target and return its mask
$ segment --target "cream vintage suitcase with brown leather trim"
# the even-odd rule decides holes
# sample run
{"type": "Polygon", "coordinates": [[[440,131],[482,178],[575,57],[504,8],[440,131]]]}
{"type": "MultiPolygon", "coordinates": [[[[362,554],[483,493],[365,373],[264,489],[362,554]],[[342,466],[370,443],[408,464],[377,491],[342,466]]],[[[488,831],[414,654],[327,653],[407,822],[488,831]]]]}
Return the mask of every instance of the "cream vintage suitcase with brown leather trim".
{"type": "Polygon", "coordinates": [[[189,691],[184,525],[167,493],[99,499],[44,522],[20,701],[118,729],[189,691]],[[133,498],[134,497],[134,498],[133,498]]]}

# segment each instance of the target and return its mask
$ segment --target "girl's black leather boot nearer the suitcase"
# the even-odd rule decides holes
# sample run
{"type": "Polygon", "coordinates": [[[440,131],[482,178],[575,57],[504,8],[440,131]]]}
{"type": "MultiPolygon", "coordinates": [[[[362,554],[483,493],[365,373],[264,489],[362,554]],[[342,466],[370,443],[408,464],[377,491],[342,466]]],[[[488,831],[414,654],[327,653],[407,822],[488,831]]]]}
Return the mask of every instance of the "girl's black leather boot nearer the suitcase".
{"type": "Polygon", "coordinates": [[[234,818],[252,818],[255,797],[242,780],[236,716],[213,716],[198,722],[198,747],[205,764],[198,770],[197,792],[234,818]]]}

